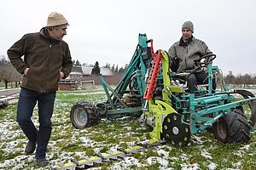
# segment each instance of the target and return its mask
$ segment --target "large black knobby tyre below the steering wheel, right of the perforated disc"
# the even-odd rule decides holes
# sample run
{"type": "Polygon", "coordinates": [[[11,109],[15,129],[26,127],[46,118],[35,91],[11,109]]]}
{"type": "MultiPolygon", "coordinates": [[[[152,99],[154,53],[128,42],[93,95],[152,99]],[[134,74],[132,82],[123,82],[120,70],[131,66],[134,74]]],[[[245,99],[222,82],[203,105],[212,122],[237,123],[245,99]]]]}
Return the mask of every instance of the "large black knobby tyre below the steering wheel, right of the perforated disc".
{"type": "Polygon", "coordinates": [[[250,139],[250,126],[247,117],[240,109],[230,111],[213,125],[213,134],[222,143],[247,142],[250,139]]]}

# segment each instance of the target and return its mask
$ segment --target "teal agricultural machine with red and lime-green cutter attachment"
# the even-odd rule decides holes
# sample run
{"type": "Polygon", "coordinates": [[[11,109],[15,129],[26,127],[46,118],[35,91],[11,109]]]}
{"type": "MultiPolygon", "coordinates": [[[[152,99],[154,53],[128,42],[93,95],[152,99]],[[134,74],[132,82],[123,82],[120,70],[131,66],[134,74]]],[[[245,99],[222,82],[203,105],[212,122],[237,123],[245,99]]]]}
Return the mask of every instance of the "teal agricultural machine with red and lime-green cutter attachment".
{"type": "MultiPolygon", "coordinates": [[[[177,148],[188,145],[192,134],[205,130],[223,143],[247,142],[256,122],[256,98],[247,90],[230,90],[218,66],[212,65],[215,57],[207,54],[195,60],[195,71],[207,67],[208,83],[199,85],[196,95],[189,94],[186,78],[195,71],[171,71],[166,51],[154,52],[153,40],[139,34],[135,53],[117,87],[111,88],[101,77],[107,101],[96,105],[80,101],[73,105],[73,126],[93,126],[102,116],[140,116],[140,122],[152,127],[150,137],[154,142],[165,141],[177,148]],[[218,88],[213,88],[214,83],[218,88]]],[[[100,158],[104,161],[113,155],[100,158]]],[[[91,165],[88,160],[74,161],[76,166],[86,164],[83,162],[91,165]]]]}

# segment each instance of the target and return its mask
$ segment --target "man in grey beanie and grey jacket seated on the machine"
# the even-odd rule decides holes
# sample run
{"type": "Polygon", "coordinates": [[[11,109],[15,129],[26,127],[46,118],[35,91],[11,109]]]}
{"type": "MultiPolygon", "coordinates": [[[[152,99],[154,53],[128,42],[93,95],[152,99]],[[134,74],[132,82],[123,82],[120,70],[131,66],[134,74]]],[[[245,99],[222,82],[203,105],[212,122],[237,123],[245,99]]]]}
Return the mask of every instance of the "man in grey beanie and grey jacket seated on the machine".
{"type": "MultiPolygon", "coordinates": [[[[177,72],[190,72],[195,69],[195,59],[199,59],[206,54],[212,54],[207,44],[193,37],[194,26],[191,21],[185,21],[182,26],[182,37],[169,48],[171,68],[176,65],[177,72]]],[[[207,83],[207,67],[202,67],[200,72],[191,74],[188,78],[189,93],[193,94],[197,90],[198,83],[207,83]]],[[[213,86],[216,86],[213,83],[213,86]]],[[[216,87],[213,87],[215,89],[216,87]]]]}

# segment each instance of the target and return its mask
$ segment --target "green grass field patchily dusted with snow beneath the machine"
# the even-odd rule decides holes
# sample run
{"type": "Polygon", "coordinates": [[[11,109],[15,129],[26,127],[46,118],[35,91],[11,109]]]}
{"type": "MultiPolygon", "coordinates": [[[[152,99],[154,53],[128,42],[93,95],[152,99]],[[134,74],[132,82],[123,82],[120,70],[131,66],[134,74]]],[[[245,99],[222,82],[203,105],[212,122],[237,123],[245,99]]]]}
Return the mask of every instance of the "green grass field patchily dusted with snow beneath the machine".
{"type": "MultiPolygon", "coordinates": [[[[83,130],[72,126],[69,111],[77,101],[98,103],[105,100],[100,91],[58,92],[49,141],[48,167],[38,167],[34,155],[23,152],[26,138],[15,122],[16,104],[0,110],[0,169],[50,169],[71,158],[94,156],[96,151],[129,147],[148,138],[149,128],[137,118],[125,117],[113,122],[102,120],[83,130]]],[[[37,109],[32,117],[38,126],[37,109]]],[[[222,144],[212,133],[193,135],[190,144],[176,149],[170,144],[149,148],[125,160],[103,163],[91,169],[256,169],[256,134],[247,144],[222,144]]]]}

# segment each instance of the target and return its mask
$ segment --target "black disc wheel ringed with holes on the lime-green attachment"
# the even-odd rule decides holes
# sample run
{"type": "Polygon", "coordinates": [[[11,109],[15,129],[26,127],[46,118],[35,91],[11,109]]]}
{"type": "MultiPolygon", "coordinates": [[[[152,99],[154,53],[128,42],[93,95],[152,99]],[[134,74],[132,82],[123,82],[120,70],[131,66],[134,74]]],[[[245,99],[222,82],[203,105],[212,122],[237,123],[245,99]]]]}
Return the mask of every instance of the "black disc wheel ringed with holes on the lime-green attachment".
{"type": "Polygon", "coordinates": [[[162,124],[162,132],[162,137],[177,148],[189,144],[190,128],[188,124],[183,122],[180,114],[171,113],[167,115],[162,124]]]}

